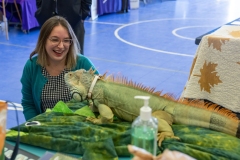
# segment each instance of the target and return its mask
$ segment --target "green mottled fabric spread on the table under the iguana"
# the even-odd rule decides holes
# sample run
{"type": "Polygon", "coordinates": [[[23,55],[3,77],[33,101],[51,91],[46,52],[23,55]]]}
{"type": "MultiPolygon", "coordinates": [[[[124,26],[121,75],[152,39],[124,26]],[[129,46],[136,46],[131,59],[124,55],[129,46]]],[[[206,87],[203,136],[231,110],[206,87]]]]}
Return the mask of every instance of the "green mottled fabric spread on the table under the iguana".
{"type": "MultiPolygon", "coordinates": [[[[85,106],[67,103],[72,110],[85,106]]],[[[21,142],[58,152],[83,156],[83,159],[116,160],[129,157],[127,145],[131,143],[131,123],[114,119],[111,124],[95,125],[84,116],[74,113],[47,112],[32,119],[41,126],[20,126],[21,142]]],[[[187,125],[173,125],[173,131],[181,141],[166,138],[158,148],[177,150],[196,159],[239,159],[240,139],[213,130],[187,125]]],[[[15,141],[17,127],[7,133],[7,140],[15,141]]]]}

